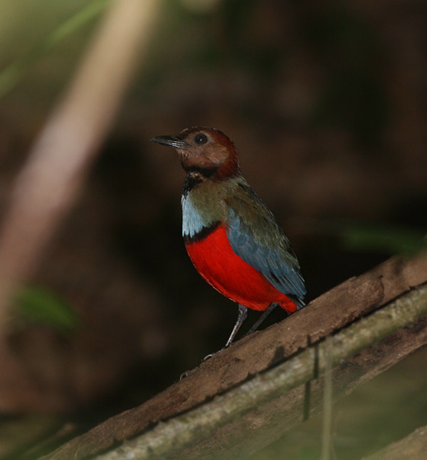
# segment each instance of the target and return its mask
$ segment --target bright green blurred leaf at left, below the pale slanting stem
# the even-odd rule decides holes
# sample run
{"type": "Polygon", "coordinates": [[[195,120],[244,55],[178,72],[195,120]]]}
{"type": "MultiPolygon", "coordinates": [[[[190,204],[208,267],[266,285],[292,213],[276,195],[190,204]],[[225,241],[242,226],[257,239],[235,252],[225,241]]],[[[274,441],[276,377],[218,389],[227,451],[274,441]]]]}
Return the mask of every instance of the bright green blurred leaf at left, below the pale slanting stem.
{"type": "Polygon", "coordinates": [[[23,286],[14,303],[26,320],[47,325],[62,333],[75,330],[80,323],[73,308],[62,298],[40,286],[23,286]]]}

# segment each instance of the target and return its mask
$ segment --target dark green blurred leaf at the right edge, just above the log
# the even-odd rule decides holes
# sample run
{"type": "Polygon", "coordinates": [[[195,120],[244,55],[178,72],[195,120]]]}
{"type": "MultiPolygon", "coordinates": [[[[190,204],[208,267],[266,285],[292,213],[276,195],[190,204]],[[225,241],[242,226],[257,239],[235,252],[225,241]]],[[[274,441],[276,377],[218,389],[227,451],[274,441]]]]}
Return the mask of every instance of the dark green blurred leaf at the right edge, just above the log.
{"type": "Polygon", "coordinates": [[[341,232],[345,249],[375,251],[408,256],[427,249],[425,233],[393,226],[344,226],[341,232]]]}

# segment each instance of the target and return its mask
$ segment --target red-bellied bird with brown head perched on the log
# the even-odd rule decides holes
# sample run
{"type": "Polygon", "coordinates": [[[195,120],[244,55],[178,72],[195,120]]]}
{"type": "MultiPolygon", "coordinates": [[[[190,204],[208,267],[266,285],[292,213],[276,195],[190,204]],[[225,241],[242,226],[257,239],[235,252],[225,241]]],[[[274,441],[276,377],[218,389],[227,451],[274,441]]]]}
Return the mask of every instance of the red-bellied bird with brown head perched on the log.
{"type": "Polygon", "coordinates": [[[238,304],[224,348],[233,343],[248,308],[263,314],[246,335],[278,306],[288,314],[304,307],[300,263],[275,216],[241,174],[233,141],[206,126],[151,141],[173,147],[186,173],[182,236],[191,262],[201,278],[238,304]]]}

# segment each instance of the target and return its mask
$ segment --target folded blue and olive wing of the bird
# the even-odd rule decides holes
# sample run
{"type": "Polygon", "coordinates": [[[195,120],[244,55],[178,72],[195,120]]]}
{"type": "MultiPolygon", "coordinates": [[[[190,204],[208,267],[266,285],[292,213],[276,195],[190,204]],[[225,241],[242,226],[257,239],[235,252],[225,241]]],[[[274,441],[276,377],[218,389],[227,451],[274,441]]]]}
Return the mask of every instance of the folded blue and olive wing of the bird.
{"type": "Polygon", "coordinates": [[[233,251],[302,308],[307,291],[300,265],[271,211],[245,179],[226,201],[227,236],[233,251]]]}

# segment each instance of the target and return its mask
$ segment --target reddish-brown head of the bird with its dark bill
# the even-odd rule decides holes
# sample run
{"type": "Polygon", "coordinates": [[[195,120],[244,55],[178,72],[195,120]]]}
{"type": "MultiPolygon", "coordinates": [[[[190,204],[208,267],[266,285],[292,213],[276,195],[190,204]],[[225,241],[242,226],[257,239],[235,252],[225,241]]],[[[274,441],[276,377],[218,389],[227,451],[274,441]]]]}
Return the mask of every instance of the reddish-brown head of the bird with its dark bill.
{"type": "Polygon", "coordinates": [[[174,147],[187,173],[213,180],[240,174],[238,151],[231,139],[212,127],[189,127],[176,136],[153,137],[152,142],[174,147]]]}

